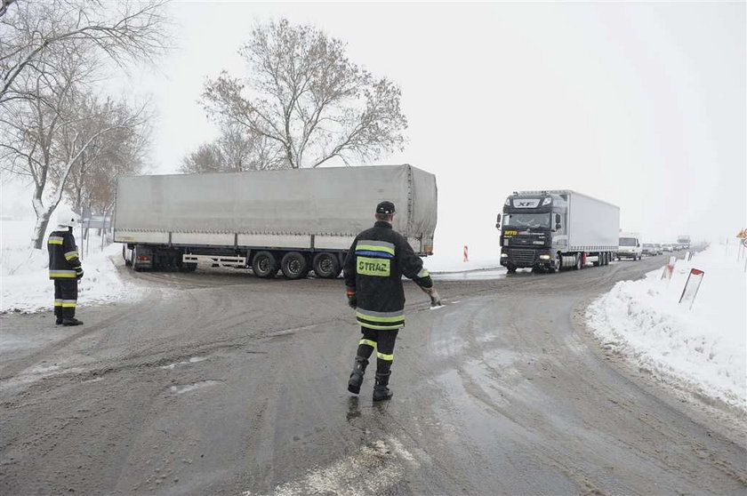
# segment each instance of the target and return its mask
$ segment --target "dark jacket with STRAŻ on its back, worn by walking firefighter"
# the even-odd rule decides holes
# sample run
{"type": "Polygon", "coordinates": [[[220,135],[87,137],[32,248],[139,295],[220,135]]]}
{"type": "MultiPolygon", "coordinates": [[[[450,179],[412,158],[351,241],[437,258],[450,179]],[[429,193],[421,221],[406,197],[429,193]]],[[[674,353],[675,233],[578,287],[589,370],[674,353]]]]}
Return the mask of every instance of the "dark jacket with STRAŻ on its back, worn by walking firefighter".
{"type": "Polygon", "coordinates": [[[402,276],[425,288],[433,285],[421,258],[389,222],[378,221],[356,236],[343,270],[347,290],[356,292],[357,323],[369,329],[405,325],[402,276]]]}

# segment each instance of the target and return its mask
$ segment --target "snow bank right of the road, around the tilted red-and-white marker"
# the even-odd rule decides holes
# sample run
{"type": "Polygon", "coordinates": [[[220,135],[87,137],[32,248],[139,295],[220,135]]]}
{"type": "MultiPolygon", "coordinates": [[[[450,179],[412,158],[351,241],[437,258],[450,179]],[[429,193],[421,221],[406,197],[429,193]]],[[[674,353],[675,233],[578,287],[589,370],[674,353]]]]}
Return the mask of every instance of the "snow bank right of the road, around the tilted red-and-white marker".
{"type": "Polygon", "coordinates": [[[606,348],[663,380],[747,409],[747,275],[735,247],[713,245],[677,260],[671,281],[662,269],[623,281],[587,309],[606,348]],[[692,309],[679,297],[690,268],[705,271],[692,309]]]}

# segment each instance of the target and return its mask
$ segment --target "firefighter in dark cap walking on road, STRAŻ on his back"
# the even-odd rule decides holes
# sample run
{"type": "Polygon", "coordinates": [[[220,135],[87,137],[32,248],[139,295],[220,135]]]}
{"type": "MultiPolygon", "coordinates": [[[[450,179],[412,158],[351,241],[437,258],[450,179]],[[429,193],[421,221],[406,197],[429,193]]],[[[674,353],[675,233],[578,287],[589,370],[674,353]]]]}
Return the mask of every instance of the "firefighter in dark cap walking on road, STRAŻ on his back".
{"type": "Polygon", "coordinates": [[[348,390],[359,393],[368,358],[376,348],[374,401],[390,399],[388,388],[394,341],[405,325],[405,291],[402,276],[413,279],[430,295],[431,304],[440,305],[428,270],[404,236],[392,229],[395,208],[391,202],[376,206],[376,223],[353,241],[344,264],[348,304],[356,309],[363,338],[358,343],[348,390]]]}

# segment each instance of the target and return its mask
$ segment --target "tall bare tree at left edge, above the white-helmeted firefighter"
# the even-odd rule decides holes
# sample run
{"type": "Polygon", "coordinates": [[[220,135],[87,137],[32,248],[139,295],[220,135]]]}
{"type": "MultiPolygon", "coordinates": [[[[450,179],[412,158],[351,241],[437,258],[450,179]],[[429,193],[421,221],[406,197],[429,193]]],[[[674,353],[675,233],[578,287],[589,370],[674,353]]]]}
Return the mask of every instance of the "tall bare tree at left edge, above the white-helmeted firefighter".
{"type": "MultiPolygon", "coordinates": [[[[0,167],[33,180],[36,228],[44,230],[71,172],[90,175],[113,164],[127,132],[140,129],[141,110],[86,108],[106,61],[150,60],[165,48],[162,0],[39,0],[4,4],[0,17],[0,167]],[[101,158],[101,159],[99,159],[101,158]],[[76,169],[76,166],[78,169],[76,169]]],[[[111,171],[109,171],[111,177],[111,171]]]]}

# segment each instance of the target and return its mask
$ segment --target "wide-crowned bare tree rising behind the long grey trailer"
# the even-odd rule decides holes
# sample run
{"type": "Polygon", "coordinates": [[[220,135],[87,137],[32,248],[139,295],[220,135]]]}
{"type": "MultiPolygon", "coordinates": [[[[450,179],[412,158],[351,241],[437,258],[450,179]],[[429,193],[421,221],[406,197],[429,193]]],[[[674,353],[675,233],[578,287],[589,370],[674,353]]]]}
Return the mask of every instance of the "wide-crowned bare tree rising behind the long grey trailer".
{"type": "Polygon", "coordinates": [[[400,91],[345,56],[345,44],[288,20],[253,30],[239,53],[250,72],[205,84],[203,103],[221,124],[239,124],[283,154],[285,167],[333,157],[376,158],[401,149],[407,127],[400,91]]]}

